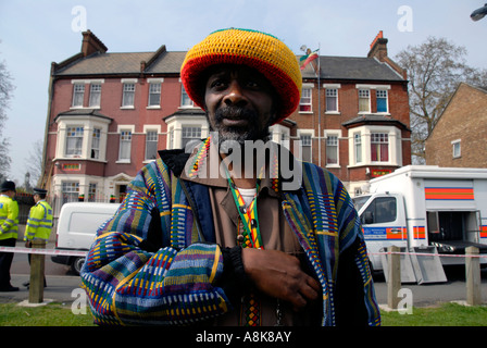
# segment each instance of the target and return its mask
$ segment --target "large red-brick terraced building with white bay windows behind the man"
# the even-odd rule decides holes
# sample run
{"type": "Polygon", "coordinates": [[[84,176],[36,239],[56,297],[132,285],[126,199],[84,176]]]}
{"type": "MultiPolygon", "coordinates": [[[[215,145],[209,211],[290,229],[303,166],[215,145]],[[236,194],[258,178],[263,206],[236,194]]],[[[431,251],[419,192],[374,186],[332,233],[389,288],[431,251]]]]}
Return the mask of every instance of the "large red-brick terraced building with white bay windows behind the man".
{"type": "MultiPolygon", "coordinates": [[[[158,150],[209,134],[179,79],[185,54],[165,46],[111,53],[88,30],[78,54],[52,63],[42,176],[51,196],[61,203],[118,200],[158,150]]],[[[408,82],[382,33],[369,57],[320,57],[302,75],[301,104],[272,127],[273,140],[291,148],[301,140],[302,158],[329,169],[352,194],[410,164],[408,82]]]]}

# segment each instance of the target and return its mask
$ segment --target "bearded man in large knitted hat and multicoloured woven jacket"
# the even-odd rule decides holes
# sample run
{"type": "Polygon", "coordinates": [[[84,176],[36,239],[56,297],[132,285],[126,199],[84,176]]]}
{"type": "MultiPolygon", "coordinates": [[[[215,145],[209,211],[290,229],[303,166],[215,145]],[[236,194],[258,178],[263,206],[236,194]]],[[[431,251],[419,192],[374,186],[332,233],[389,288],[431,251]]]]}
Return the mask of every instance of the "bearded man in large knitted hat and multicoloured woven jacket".
{"type": "Polygon", "coordinates": [[[379,324],[342,184],[265,142],[299,104],[292,51],[218,30],[188,51],[182,80],[212,134],[192,153],[161,151],[100,227],[82,271],[96,322],[379,324]]]}

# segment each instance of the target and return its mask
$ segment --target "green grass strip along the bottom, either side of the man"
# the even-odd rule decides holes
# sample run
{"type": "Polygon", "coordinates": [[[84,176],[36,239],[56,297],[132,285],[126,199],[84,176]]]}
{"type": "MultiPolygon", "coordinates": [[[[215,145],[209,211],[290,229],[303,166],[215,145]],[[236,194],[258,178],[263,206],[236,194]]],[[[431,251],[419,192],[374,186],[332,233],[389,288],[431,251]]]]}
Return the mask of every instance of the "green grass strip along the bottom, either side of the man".
{"type": "MultiPolygon", "coordinates": [[[[413,308],[412,314],[382,311],[383,326],[487,326],[487,307],[444,303],[413,308]]],[[[89,309],[73,314],[71,304],[52,302],[40,307],[0,303],[0,326],[93,326],[89,309]]]]}

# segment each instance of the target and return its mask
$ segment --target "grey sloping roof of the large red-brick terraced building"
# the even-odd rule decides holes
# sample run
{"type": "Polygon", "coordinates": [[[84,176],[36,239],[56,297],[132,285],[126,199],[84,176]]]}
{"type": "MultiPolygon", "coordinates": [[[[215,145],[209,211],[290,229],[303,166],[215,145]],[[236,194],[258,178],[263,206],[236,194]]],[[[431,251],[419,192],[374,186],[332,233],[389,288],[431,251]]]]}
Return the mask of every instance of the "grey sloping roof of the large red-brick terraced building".
{"type": "MultiPolygon", "coordinates": [[[[145,74],[179,74],[180,65],[186,52],[132,52],[132,53],[102,53],[97,52],[88,57],[66,60],[59,64],[54,71],[57,76],[73,75],[118,75],[140,74],[141,62],[145,74]]],[[[392,67],[374,58],[355,57],[321,57],[321,78],[350,79],[350,80],[383,80],[404,82],[392,67]]],[[[302,71],[303,78],[316,78],[312,64],[302,71]]]]}

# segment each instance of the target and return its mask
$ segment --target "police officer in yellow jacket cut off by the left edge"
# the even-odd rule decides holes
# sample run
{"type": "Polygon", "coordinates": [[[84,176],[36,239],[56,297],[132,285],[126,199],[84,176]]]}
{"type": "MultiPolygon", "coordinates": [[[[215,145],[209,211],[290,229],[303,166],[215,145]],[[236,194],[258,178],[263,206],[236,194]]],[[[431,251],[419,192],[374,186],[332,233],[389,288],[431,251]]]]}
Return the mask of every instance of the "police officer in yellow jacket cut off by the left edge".
{"type": "MultiPolygon", "coordinates": [[[[0,246],[15,247],[18,232],[18,204],[15,197],[15,183],[5,181],[0,186],[0,246]]],[[[0,252],[0,291],[17,291],[10,284],[10,266],[13,252],[0,252]]]]}

